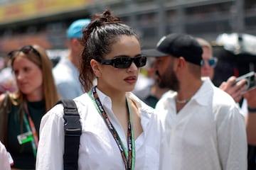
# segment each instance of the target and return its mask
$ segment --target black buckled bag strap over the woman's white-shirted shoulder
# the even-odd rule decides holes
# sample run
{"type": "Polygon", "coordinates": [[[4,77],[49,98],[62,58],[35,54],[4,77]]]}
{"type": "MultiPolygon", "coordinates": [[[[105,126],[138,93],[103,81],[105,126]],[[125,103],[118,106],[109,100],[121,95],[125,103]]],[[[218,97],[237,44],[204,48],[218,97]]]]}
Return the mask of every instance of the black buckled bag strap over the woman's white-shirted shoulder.
{"type": "Polygon", "coordinates": [[[65,142],[63,155],[64,170],[77,170],[80,135],[82,134],[80,115],[78,113],[78,108],[75,105],[75,101],[62,99],[56,104],[59,103],[63,103],[63,118],[65,120],[65,142]]]}

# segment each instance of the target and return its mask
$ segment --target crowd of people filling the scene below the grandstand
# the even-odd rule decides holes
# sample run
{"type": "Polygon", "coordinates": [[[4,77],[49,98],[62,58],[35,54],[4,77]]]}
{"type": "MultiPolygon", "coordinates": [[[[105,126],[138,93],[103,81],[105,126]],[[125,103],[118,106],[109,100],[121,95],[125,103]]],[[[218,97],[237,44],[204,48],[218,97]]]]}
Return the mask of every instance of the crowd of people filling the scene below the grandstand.
{"type": "Polygon", "coordinates": [[[256,89],[233,75],[216,87],[208,41],[171,33],[142,50],[110,10],[74,21],[67,40],[54,68],[40,45],[8,53],[16,89],[0,95],[0,169],[65,169],[63,98],[80,115],[78,169],[255,168],[256,89]]]}

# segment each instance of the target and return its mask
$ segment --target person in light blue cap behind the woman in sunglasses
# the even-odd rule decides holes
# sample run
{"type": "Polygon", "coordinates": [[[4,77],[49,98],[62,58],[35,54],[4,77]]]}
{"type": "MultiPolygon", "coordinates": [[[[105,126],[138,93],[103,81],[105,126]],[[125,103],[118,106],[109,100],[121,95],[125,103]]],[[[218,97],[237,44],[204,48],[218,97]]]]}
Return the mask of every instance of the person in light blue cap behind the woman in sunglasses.
{"type": "Polygon", "coordinates": [[[79,57],[82,52],[80,38],[82,28],[85,28],[90,19],[79,19],[71,23],[67,30],[68,57],[64,57],[53,68],[53,76],[58,93],[62,98],[73,99],[83,94],[79,81],[79,57]]]}

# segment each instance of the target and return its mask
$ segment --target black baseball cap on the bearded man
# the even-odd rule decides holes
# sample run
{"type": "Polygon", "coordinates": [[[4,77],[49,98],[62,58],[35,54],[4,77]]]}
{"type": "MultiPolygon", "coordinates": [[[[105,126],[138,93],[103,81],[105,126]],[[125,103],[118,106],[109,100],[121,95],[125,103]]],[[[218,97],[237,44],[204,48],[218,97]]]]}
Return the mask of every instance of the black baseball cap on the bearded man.
{"type": "Polygon", "coordinates": [[[159,40],[155,49],[142,50],[147,57],[184,57],[186,61],[201,66],[203,50],[191,35],[171,33],[159,40]]]}

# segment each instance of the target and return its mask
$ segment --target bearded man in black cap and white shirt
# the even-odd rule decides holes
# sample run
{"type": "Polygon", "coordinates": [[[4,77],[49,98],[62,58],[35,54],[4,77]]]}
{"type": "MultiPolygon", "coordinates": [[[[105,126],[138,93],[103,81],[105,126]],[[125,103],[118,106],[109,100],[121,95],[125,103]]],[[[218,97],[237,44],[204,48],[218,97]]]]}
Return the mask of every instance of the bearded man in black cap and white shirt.
{"type": "Polygon", "coordinates": [[[197,40],[174,33],[143,53],[156,57],[159,86],[176,91],[156,104],[169,139],[170,169],[247,169],[245,120],[230,95],[201,79],[197,40]]]}

